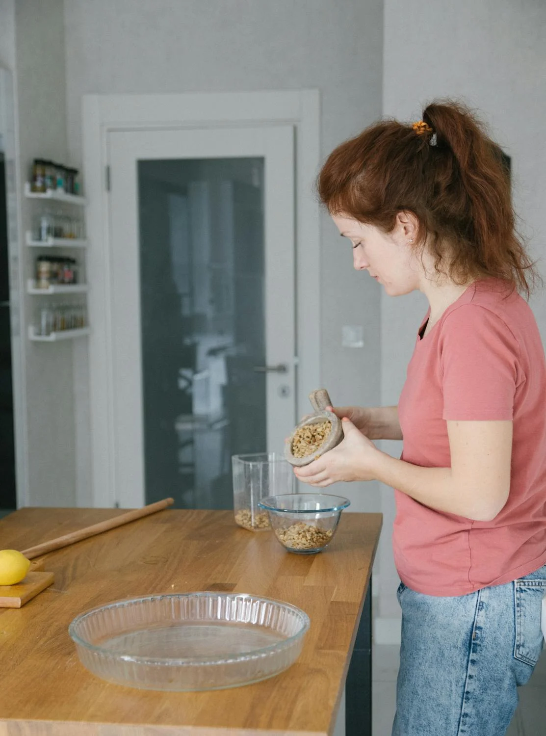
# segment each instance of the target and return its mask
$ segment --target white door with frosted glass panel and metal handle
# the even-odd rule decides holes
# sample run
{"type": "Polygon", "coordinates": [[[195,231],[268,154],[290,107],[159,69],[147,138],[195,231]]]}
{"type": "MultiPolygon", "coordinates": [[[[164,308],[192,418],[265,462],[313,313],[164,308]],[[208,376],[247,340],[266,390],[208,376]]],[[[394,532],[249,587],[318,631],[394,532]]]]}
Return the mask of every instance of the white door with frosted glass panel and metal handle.
{"type": "Polygon", "coordinates": [[[116,498],[230,508],[230,456],[296,420],[294,129],[109,132],[107,156],[116,498]]]}

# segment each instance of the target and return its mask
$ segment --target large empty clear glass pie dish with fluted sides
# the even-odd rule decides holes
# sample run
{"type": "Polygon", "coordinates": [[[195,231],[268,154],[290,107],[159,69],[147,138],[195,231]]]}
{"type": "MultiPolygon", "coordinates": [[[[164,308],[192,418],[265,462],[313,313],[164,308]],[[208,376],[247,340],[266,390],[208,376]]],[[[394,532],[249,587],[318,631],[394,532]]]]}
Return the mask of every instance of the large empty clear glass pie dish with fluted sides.
{"type": "Polygon", "coordinates": [[[108,682],[144,690],[219,690],[260,682],[294,664],[309,617],[245,593],[149,595],[74,618],[82,665],[108,682]]]}

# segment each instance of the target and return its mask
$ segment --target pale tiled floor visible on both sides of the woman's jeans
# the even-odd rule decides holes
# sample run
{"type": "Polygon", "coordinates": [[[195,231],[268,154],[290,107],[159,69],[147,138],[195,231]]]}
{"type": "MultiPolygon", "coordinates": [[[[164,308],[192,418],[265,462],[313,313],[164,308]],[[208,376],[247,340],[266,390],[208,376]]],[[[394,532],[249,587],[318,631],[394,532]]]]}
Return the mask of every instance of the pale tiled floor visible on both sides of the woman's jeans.
{"type": "MultiPolygon", "coordinates": [[[[396,701],[398,647],[374,645],[372,654],[372,736],[391,736],[396,701]]],[[[531,680],[520,689],[520,705],[506,736],[546,734],[546,652],[531,680]]]]}

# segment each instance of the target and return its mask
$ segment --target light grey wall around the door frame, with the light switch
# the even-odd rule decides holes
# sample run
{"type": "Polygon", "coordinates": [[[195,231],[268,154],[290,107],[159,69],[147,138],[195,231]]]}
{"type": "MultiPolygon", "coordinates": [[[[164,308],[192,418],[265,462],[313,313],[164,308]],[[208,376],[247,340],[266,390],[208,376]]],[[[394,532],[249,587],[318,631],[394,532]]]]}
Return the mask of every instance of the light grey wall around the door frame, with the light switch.
{"type": "MultiPolygon", "coordinates": [[[[65,0],[69,158],[76,166],[82,160],[85,93],[297,88],[321,91],[326,156],[380,116],[382,24],[382,0],[65,0]]],[[[377,284],[352,272],[350,250],[326,217],[317,258],[322,259],[322,381],[338,404],[377,403],[377,284]],[[341,348],[344,324],[364,325],[364,350],[341,348]]],[[[85,354],[74,358],[79,498],[85,499],[86,361],[85,354]]],[[[377,489],[353,486],[349,493],[353,509],[378,509],[377,489]]]]}

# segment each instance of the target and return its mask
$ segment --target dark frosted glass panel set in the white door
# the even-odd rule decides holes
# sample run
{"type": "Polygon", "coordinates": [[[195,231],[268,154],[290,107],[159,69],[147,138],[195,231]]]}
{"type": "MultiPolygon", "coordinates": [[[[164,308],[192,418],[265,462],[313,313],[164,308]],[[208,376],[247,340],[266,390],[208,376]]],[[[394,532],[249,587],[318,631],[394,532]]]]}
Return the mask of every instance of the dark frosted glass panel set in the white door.
{"type": "Polygon", "coordinates": [[[138,161],[146,503],[230,509],[266,450],[263,158],[138,161]]]}

